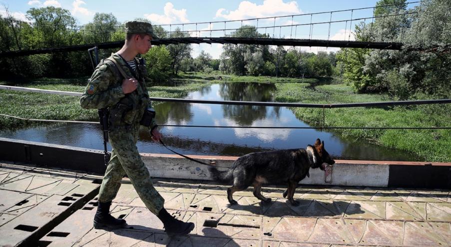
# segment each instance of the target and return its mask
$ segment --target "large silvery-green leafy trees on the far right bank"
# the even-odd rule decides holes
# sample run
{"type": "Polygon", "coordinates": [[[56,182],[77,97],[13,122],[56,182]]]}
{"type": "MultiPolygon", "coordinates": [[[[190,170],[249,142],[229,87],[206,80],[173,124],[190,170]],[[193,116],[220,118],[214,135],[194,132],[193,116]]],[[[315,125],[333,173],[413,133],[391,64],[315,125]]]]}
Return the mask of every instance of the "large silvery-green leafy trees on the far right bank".
{"type": "MultiPolygon", "coordinates": [[[[409,11],[405,0],[381,0],[375,15],[393,15],[409,11]],[[385,6],[397,4],[394,6],[385,6]]],[[[393,98],[417,98],[424,93],[436,98],[451,96],[450,52],[451,2],[423,1],[415,15],[389,16],[356,27],[360,41],[405,42],[401,51],[342,49],[337,54],[343,78],[359,92],[388,92],[393,98]],[[419,47],[436,46],[436,52],[419,51],[419,47]]]]}

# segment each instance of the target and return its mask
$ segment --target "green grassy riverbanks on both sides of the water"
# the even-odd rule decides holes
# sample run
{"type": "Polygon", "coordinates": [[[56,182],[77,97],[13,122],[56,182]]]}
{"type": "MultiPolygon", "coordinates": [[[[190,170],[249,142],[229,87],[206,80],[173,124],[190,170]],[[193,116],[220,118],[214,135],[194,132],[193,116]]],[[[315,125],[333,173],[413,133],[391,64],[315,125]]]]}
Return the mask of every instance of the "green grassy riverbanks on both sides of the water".
{"type": "MultiPolygon", "coordinates": [[[[203,76],[203,75],[196,75],[203,76]]],[[[205,77],[194,81],[177,81],[173,86],[153,86],[151,97],[181,98],[211,83],[221,82],[205,77]]],[[[211,76],[211,75],[210,75],[211,76]]],[[[234,76],[231,76],[234,78],[234,76]]],[[[243,78],[251,80],[252,77],[243,78]]],[[[233,82],[223,80],[222,82],[233,82]]],[[[298,79],[299,80],[299,79],[298,79]]],[[[61,83],[45,80],[20,84],[60,91],[82,92],[86,80],[61,83]]],[[[236,81],[239,81],[236,79],[236,81]]],[[[316,81],[316,80],[315,80],[316,81]]],[[[0,84],[7,84],[0,82],[0,84]]],[[[328,84],[311,86],[310,83],[279,81],[275,99],[279,102],[302,103],[357,103],[390,100],[385,95],[356,94],[350,86],[328,84]]],[[[323,124],[322,109],[293,108],[297,118],[311,126],[323,124]]],[[[409,107],[358,107],[326,109],[325,126],[334,127],[443,127],[450,126],[451,105],[419,105],[409,107]]],[[[79,97],[52,94],[26,93],[0,90],[0,113],[23,118],[97,121],[96,110],[79,106],[79,97]]],[[[0,129],[29,125],[23,120],[0,116],[0,129]]],[[[371,143],[415,153],[427,161],[451,162],[451,130],[332,130],[346,139],[365,139],[371,143]]]]}

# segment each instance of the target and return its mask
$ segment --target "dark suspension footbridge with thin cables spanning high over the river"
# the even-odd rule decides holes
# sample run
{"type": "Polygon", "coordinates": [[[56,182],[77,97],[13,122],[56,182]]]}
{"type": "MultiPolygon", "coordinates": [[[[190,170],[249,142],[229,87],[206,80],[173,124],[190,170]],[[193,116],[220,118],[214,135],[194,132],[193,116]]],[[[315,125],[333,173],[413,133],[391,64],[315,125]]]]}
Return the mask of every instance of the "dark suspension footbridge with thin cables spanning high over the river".
{"type": "MultiPolygon", "coordinates": [[[[154,24],[155,30],[161,38],[152,40],[152,44],[219,43],[401,50],[404,46],[403,38],[407,27],[398,26],[397,23],[399,21],[406,22],[414,16],[418,16],[421,13],[421,3],[421,1],[412,1],[405,4],[238,20],[154,24]],[[376,15],[377,8],[390,9],[390,11],[376,15]],[[379,21],[387,29],[395,29],[398,35],[387,38],[387,35],[373,32],[371,27],[376,21],[379,21]],[[356,25],[359,26],[360,35],[367,41],[355,40],[356,25]],[[246,32],[246,30],[253,30],[253,32],[246,32]]],[[[66,26],[66,31],[81,35],[89,33],[93,36],[101,36],[102,40],[95,43],[46,47],[42,32],[49,27],[49,24],[14,22],[16,25],[29,25],[35,28],[38,42],[35,47],[2,51],[0,52],[2,57],[84,51],[93,46],[100,49],[117,48],[124,43],[123,26],[113,26],[109,30],[105,30],[102,26],[74,25],[66,26]],[[114,34],[119,34],[122,38],[114,41],[114,34]]]]}

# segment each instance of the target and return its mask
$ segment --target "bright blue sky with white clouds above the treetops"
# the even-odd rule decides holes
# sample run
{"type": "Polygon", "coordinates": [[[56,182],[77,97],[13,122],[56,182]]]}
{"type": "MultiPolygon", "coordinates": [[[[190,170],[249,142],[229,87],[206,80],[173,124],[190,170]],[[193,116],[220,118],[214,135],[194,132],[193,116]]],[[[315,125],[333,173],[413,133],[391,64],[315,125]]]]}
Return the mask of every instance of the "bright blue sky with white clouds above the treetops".
{"type": "MultiPolygon", "coordinates": [[[[248,18],[262,18],[280,15],[296,15],[323,11],[334,11],[351,8],[371,7],[376,5],[377,0],[0,0],[0,14],[4,14],[6,6],[16,18],[25,19],[26,11],[31,7],[57,6],[68,9],[77,19],[79,24],[86,24],[92,20],[95,12],[113,13],[118,21],[124,22],[137,17],[147,18],[153,24],[172,24],[166,29],[179,26],[184,30],[191,30],[192,36],[210,36],[210,31],[195,32],[195,30],[210,30],[224,28],[224,23],[186,24],[193,22],[210,22],[239,20],[248,18]],[[125,2],[125,3],[124,3],[125,2]],[[174,25],[185,23],[182,25],[174,25]]],[[[412,7],[413,5],[409,5],[412,7]]],[[[372,16],[372,9],[338,12],[332,14],[332,20],[350,19],[372,16]]],[[[310,15],[277,18],[276,25],[310,23],[310,15]]],[[[312,16],[313,22],[329,21],[331,14],[318,14],[312,16]]],[[[367,23],[370,20],[367,20],[367,23]]],[[[244,21],[243,24],[257,25],[256,21],[244,21]]],[[[274,19],[259,19],[258,26],[272,26],[274,19]]],[[[226,28],[237,28],[241,21],[227,22],[226,28]]],[[[353,25],[354,26],[354,25],[353,25]]],[[[259,28],[259,32],[268,33],[276,37],[308,38],[310,26],[303,25],[297,28],[259,28]],[[296,36],[295,36],[296,33],[296,36]]],[[[227,31],[229,33],[230,31],[227,31]]],[[[226,33],[226,34],[227,34],[226,33]]],[[[313,26],[312,38],[320,39],[353,39],[349,34],[349,23],[318,24],[313,26]],[[345,29],[345,27],[347,29],[345,29]]],[[[223,31],[211,32],[211,36],[224,36],[223,31]]],[[[201,50],[209,52],[214,58],[218,58],[222,45],[201,44],[193,45],[193,57],[201,50]]],[[[326,48],[303,47],[304,50],[316,52],[326,48]]],[[[329,48],[327,51],[336,51],[329,48]]]]}

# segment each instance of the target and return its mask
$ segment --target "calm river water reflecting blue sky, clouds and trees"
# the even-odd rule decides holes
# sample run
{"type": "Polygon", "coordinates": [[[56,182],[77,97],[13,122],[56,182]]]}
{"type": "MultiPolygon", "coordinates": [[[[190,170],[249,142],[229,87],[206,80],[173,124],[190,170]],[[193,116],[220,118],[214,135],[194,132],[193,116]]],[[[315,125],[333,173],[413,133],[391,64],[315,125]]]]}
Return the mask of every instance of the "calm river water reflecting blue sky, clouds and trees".
{"type": "MultiPolygon", "coordinates": [[[[205,100],[273,101],[274,84],[229,83],[204,87],[187,98],[205,100]]],[[[253,127],[306,127],[286,107],[234,106],[165,102],[155,107],[159,125],[207,125],[253,127]]],[[[315,129],[190,128],[163,127],[166,145],[177,152],[199,155],[241,156],[250,152],[305,148],[316,138],[325,141],[336,158],[360,160],[420,160],[404,151],[361,141],[345,140],[330,132],[315,129]]],[[[51,124],[20,130],[6,130],[1,137],[103,149],[98,125],[51,124]]],[[[151,140],[147,130],[140,131],[138,149],[144,153],[170,153],[151,140]]],[[[108,149],[111,147],[108,144],[108,149]]]]}

